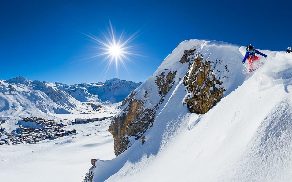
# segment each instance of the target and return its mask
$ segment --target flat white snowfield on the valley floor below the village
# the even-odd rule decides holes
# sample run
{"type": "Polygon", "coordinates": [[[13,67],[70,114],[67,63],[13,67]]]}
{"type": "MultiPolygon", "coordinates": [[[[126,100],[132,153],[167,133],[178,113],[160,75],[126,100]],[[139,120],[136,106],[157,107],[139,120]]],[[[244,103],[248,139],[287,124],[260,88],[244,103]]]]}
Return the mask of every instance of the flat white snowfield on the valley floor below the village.
{"type": "MultiPolygon", "coordinates": [[[[96,113],[94,116],[109,115],[96,113]]],[[[82,181],[92,166],[91,159],[97,155],[107,160],[115,157],[109,124],[110,119],[67,125],[65,129],[75,129],[77,134],[37,143],[0,146],[0,181],[82,181]]]]}

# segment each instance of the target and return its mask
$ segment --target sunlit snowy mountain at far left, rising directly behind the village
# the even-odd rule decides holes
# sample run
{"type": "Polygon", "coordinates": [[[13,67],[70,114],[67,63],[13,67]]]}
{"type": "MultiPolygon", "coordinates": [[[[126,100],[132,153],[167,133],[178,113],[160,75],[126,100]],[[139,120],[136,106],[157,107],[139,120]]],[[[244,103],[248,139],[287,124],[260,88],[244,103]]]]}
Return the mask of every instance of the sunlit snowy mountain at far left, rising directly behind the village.
{"type": "Polygon", "coordinates": [[[0,82],[0,112],[72,113],[80,110],[81,105],[50,82],[30,81],[20,76],[0,82]]]}

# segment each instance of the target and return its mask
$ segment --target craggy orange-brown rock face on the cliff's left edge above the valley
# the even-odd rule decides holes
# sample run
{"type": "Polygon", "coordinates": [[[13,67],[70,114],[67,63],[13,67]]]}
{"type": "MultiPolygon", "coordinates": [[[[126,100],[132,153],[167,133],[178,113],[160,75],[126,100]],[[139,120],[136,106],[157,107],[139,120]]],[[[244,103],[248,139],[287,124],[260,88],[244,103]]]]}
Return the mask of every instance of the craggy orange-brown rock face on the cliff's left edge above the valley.
{"type": "Polygon", "coordinates": [[[151,106],[146,104],[146,99],[150,93],[144,91],[142,98],[135,98],[136,92],[133,91],[122,102],[121,112],[113,118],[109,126],[109,132],[114,138],[114,150],[116,156],[124,152],[132,145],[135,140],[138,140],[146,131],[153,125],[156,111],[163,102],[164,96],[172,88],[176,71],[164,70],[156,75],[155,83],[158,89],[160,100],[157,103],[152,103],[151,106]],[[143,100],[145,99],[145,100],[143,100]]]}

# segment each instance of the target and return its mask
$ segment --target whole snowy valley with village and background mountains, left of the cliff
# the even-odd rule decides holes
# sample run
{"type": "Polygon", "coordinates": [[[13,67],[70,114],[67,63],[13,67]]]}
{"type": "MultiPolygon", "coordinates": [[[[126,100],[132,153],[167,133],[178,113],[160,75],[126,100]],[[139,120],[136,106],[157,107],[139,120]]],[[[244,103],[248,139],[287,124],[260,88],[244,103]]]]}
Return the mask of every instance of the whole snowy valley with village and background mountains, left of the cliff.
{"type": "Polygon", "coordinates": [[[0,181],[82,181],[96,154],[114,158],[111,119],[103,118],[140,84],[0,80],[0,181]],[[74,124],[76,118],[101,121],[74,124]]]}

